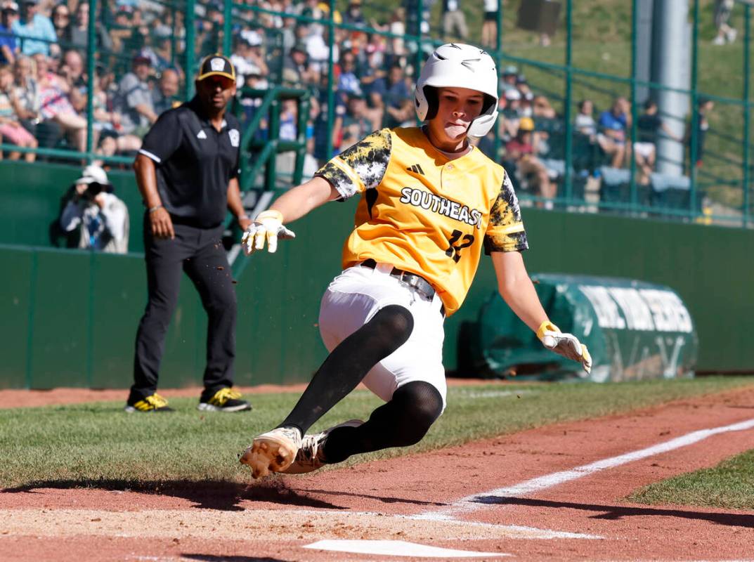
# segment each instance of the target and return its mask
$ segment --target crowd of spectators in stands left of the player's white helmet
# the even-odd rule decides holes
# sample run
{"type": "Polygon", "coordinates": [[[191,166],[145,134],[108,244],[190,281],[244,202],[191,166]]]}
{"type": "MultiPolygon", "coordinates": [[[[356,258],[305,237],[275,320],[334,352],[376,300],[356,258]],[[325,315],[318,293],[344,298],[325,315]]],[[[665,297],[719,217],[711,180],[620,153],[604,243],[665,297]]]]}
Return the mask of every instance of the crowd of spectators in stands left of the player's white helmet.
{"type": "MultiPolygon", "coordinates": [[[[327,157],[323,127],[326,129],[328,115],[330,38],[328,27],[316,20],[328,17],[329,5],[319,0],[246,4],[290,17],[234,14],[232,60],[238,69],[238,85],[309,88],[313,98],[311,150],[317,151],[318,157],[327,157]],[[271,69],[270,61],[282,64],[271,69]]],[[[217,2],[198,2],[197,8],[198,60],[221,49],[224,14],[217,2]]],[[[98,3],[93,84],[88,83],[84,61],[88,2],[2,0],[0,13],[0,126],[6,145],[75,151],[85,151],[91,145],[104,156],[131,154],[138,150],[141,137],[160,113],[179,100],[185,86],[181,68],[185,14],[172,10],[169,3],[98,3]],[[90,95],[93,132],[92,139],[87,139],[90,95]]],[[[335,16],[339,23],[364,29],[371,26],[395,35],[385,38],[353,29],[335,31],[336,130],[331,139],[339,151],[345,148],[344,142],[354,142],[365,131],[409,122],[413,114],[406,72],[409,51],[402,37],[405,10],[395,9],[384,22],[367,22],[360,0],[351,0],[348,8],[335,16]]],[[[297,116],[290,122],[295,127],[297,116]]],[[[287,134],[291,134],[290,127],[287,134]]],[[[6,157],[17,158],[21,152],[6,151],[6,157]]],[[[35,155],[26,157],[32,160],[35,155]]]]}

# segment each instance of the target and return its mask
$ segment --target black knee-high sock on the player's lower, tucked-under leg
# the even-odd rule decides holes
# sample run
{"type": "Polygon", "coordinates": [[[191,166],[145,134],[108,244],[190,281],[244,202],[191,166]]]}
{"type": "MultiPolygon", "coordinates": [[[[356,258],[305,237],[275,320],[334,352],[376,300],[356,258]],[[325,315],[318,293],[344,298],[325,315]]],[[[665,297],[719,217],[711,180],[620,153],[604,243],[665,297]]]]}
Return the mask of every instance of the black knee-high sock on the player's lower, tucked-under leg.
{"type": "Polygon", "coordinates": [[[442,412],[443,397],[434,386],[423,380],[406,383],[362,426],[333,429],[323,456],[327,463],[340,463],[354,454],[418,443],[442,412]]]}

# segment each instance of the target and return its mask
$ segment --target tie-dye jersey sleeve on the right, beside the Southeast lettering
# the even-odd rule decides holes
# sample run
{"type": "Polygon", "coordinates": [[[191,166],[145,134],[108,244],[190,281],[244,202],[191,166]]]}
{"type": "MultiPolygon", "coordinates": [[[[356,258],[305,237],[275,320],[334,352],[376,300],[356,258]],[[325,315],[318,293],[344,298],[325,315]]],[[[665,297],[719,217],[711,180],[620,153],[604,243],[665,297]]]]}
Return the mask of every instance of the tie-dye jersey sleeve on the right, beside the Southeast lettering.
{"type": "Polygon", "coordinates": [[[521,209],[508,173],[504,173],[500,194],[489,212],[489,224],[484,235],[484,250],[491,252],[519,252],[529,248],[521,221],[521,209]]]}

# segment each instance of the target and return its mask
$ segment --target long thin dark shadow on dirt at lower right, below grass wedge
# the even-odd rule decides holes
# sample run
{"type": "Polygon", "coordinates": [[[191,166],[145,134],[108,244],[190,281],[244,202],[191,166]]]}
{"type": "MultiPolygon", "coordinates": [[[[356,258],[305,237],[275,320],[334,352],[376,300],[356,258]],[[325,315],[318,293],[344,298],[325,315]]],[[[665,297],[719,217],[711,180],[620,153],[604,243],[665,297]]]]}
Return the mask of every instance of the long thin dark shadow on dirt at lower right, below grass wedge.
{"type": "Polygon", "coordinates": [[[619,521],[627,517],[675,517],[682,519],[694,519],[698,521],[710,521],[718,525],[730,527],[754,528],[754,515],[743,513],[725,512],[693,512],[685,509],[662,509],[652,507],[627,507],[624,505],[598,505],[592,503],[553,502],[547,499],[529,499],[516,497],[480,496],[480,503],[501,505],[529,505],[532,507],[549,507],[554,509],[580,509],[587,512],[595,512],[591,515],[594,519],[607,519],[619,521]]]}

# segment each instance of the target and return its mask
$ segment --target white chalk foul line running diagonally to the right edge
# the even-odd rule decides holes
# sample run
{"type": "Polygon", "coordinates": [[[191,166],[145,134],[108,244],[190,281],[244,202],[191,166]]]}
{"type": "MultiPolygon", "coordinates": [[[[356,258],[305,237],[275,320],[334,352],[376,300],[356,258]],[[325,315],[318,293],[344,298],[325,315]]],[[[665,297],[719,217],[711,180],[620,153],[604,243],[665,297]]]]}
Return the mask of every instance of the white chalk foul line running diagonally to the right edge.
{"type": "Polygon", "coordinates": [[[667,453],[668,451],[673,451],[680,447],[686,447],[687,445],[697,443],[698,441],[702,441],[713,435],[718,435],[719,433],[743,431],[752,428],[754,428],[754,419],[733,423],[729,426],[715,427],[713,429],[700,429],[699,431],[687,433],[686,435],[676,437],[670,441],[640,449],[639,451],[622,454],[618,457],[598,460],[584,466],[577,466],[575,469],[553,472],[553,474],[532,478],[531,480],[523,481],[520,484],[514,484],[513,486],[497,488],[495,490],[489,490],[488,492],[475,493],[472,496],[466,496],[459,499],[445,509],[441,509],[437,512],[424,512],[415,515],[414,518],[434,521],[452,520],[455,518],[455,515],[474,512],[486,504],[495,503],[498,498],[527,496],[531,493],[557,486],[558,484],[563,484],[564,482],[583,478],[584,476],[599,472],[600,470],[612,469],[616,466],[632,463],[635,460],[653,457],[654,455],[667,453]]]}

